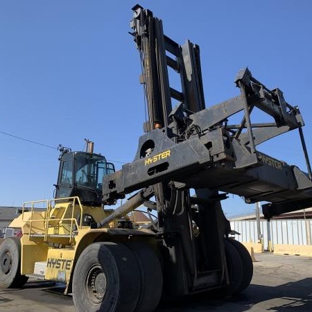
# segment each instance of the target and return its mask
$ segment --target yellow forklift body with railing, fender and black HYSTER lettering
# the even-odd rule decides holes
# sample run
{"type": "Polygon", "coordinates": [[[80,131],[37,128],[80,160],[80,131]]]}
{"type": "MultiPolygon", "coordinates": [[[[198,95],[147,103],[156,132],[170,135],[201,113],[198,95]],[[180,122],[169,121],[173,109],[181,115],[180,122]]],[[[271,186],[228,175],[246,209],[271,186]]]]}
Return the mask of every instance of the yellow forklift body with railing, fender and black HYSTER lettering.
{"type": "Polygon", "coordinates": [[[35,263],[46,262],[44,279],[66,283],[67,294],[78,257],[95,241],[139,240],[155,247],[155,234],[149,229],[119,229],[116,220],[101,229],[83,225],[83,214],[91,215],[98,223],[111,213],[112,209],[83,206],[78,197],[24,203],[22,214],[9,225],[23,232],[21,275],[34,275],[35,263]]]}

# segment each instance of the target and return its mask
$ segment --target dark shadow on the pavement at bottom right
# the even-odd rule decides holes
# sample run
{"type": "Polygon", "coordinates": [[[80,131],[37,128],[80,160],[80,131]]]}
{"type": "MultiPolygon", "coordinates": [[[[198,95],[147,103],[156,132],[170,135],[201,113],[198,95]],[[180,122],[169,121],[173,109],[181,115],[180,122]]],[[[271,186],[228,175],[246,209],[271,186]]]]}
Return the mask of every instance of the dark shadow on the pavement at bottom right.
{"type": "Polygon", "coordinates": [[[304,312],[312,311],[312,278],[286,283],[280,286],[250,284],[241,294],[228,300],[216,299],[216,295],[201,293],[174,302],[161,303],[157,312],[223,311],[304,312]]]}

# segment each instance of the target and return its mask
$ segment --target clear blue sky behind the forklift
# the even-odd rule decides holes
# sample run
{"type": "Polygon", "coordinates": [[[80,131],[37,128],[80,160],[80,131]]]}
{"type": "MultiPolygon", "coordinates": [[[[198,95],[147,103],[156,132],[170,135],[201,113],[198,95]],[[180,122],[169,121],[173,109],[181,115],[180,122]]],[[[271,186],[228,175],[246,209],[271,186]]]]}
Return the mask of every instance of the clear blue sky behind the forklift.
{"type": "MultiPolygon", "coordinates": [[[[107,159],[132,161],[145,118],[139,54],[128,34],[135,3],[1,1],[0,131],[73,150],[87,138],[107,159]]],[[[140,4],[173,40],[200,46],[207,107],[239,94],[234,77],[248,66],[300,107],[311,151],[311,1],[140,4]]],[[[0,146],[0,206],[53,197],[57,150],[1,133],[0,146]]],[[[306,171],[297,131],[260,150],[306,171]]],[[[227,215],[254,210],[232,196],[223,207],[227,215]]]]}

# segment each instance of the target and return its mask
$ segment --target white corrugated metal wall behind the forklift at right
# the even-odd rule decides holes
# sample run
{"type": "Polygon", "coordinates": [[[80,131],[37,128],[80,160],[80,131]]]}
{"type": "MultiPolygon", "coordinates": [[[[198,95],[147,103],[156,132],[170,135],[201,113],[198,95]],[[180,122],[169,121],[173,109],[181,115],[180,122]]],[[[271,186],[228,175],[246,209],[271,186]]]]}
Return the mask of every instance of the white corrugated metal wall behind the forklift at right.
{"type": "MultiPolygon", "coordinates": [[[[256,220],[231,221],[231,227],[241,234],[235,235],[238,241],[257,243],[256,220]]],[[[269,240],[273,249],[274,244],[311,245],[312,220],[261,220],[260,227],[264,250],[268,250],[269,240]]]]}

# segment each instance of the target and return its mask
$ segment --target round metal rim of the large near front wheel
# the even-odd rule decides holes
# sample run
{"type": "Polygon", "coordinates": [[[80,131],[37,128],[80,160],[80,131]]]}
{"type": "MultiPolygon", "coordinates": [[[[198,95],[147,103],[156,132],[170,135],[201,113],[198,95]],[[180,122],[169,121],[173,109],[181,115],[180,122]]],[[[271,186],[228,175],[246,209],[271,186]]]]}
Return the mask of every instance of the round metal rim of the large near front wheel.
{"type": "Polygon", "coordinates": [[[89,268],[85,281],[85,291],[89,300],[94,304],[100,304],[106,293],[106,276],[100,265],[96,264],[89,268]]]}

